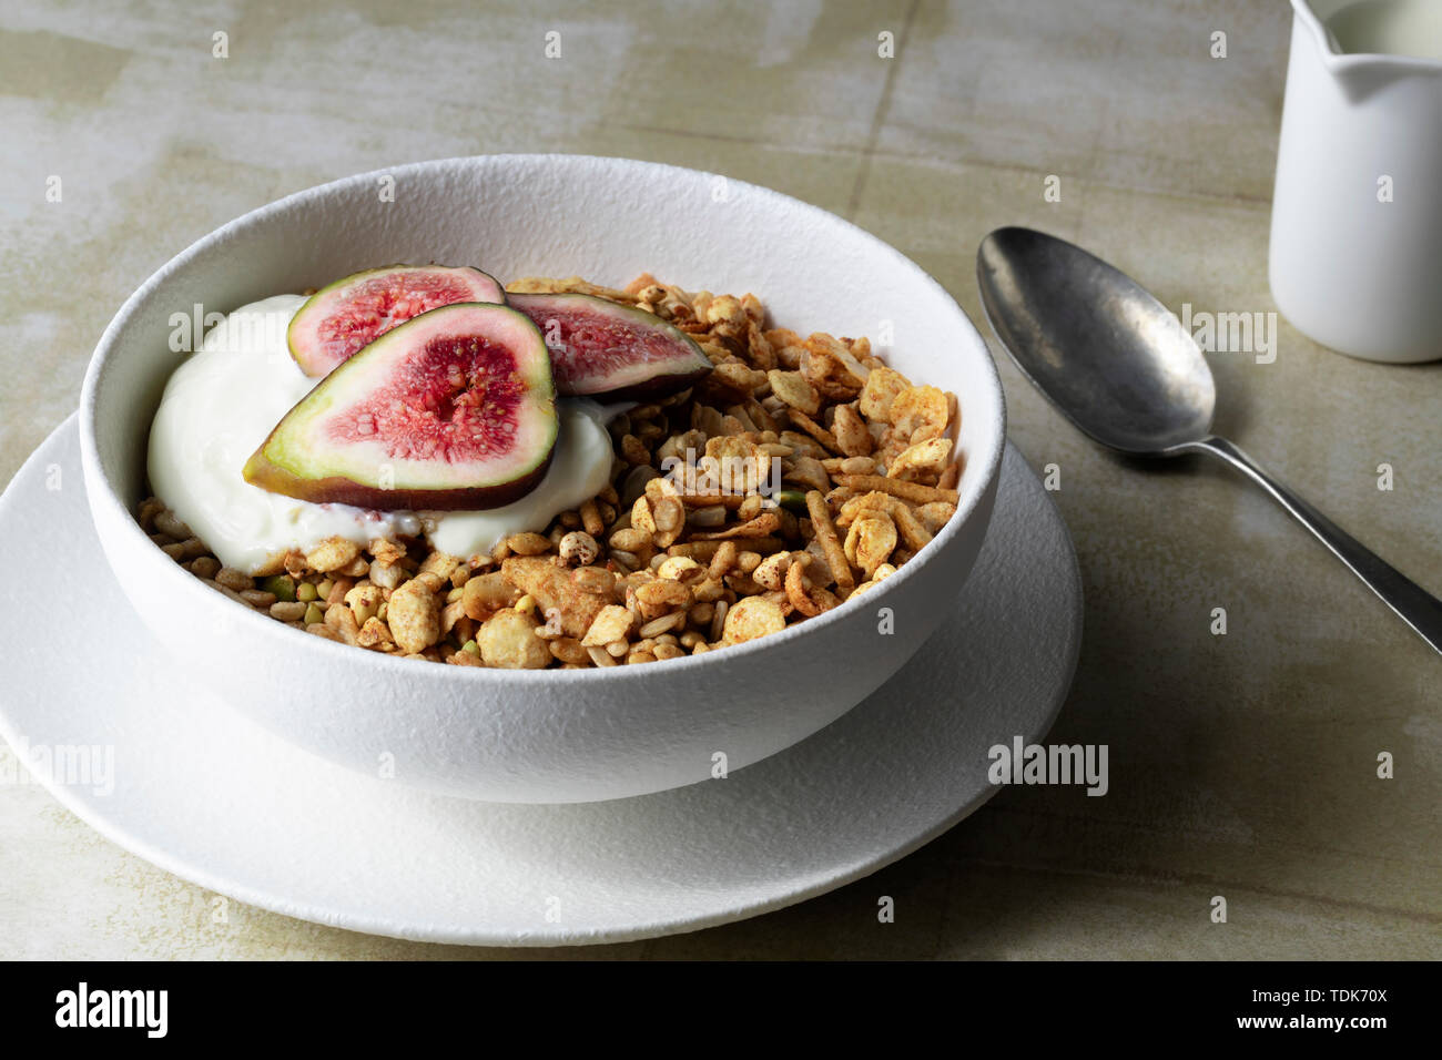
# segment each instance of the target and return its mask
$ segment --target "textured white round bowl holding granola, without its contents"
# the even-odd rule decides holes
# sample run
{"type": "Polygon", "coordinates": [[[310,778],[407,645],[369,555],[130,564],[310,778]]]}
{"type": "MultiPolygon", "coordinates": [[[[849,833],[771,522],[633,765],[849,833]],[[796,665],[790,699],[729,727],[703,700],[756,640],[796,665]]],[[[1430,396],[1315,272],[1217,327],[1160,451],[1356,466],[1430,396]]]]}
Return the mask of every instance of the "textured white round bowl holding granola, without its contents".
{"type": "MultiPolygon", "coordinates": [[[[930,636],[991,521],[1001,384],[956,301],[839,218],[696,170],[584,156],[483,156],[337,180],[257,209],[150,277],[95,349],[81,397],[91,512],[110,565],[176,665],[281,737],[372,776],[496,802],[588,802],[741,769],[810,736],[930,636]],[[394,187],[394,200],[381,192],[394,187]],[[150,420],[176,355],[173,313],[229,312],[389,261],[476,264],[502,281],[652,271],[688,290],[754,291],[774,320],[881,333],[914,382],[955,391],[966,467],[956,516],[871,593],[782,633],[643,666],[499,671],[330,643],[202,586],[133,512],[150,420]],[[890,611],[893,633],[883,611],[890,611]]],[[[960,689],[959,689],[960,691],[960,689]]],[[[867,767],[857,748],[857,769],[867,767]]],[[[805,780],[799,777],[799,780],[805,780]]]]}

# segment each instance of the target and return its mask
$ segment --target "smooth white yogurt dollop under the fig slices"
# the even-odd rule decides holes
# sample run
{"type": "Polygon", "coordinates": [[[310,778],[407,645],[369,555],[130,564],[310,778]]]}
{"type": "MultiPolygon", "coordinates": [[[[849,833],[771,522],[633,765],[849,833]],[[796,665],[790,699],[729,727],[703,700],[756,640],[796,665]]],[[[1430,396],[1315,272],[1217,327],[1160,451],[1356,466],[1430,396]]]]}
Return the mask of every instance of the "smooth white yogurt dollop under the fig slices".
{"type": "Polygon", "coordinates": [[[150,487],[226,567],[252,573],[275,552],[310,551],[326,538],[358,544],[425,536],[470,557],[502,538],[542,531],[610,482],[611,440],[594,402],[557,402],[559,434],[541,483],[519,500],[480,512],[373,512],[317,505],[245,482],[241,469],[316,381],[290,356],[286,327],[306,303],[280,294],[244,306],[205,336],[166,384],[150,427],[150,487]]]}

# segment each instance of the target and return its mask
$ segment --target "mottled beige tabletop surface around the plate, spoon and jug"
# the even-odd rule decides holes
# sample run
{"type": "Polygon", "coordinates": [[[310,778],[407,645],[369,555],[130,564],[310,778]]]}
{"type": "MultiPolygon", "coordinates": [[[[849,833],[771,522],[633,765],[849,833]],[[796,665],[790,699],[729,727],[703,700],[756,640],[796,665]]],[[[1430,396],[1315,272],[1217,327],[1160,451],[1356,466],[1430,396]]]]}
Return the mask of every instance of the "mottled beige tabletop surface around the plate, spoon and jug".
{"type": "MultiPolygon", "coordinates": [[[[973,254],[1045,228],[1168,306],[1270,312],[1282,0],[844,4],[76,4],[0,17],[0,472],[75,407],[146,275],[277,196],[401,162],[622,154],[770,185],[916,258],[981,320],[973,254]],[[554,13],[547,13],[551,10],[554,13]],[[212,35],[229,58],[212,58],[212,35]],[[559,59],[544,58],[558,30],[559,59]],[[1224,30],[1229,55],[1208,55],[1224,30]],[[891,32],[897,56],[877,55],[891,32]],[[1043,200],[1047,175],[1061,200],[1043,200]],[[46,179],[62,202],[46,202],[46,179]]],[[[1442,590],[1442,369],[1279,324],[1216,353],[1220,428],[1442,590]],[[1377,464],[1396,489],[1377,489],[1377,464]]],[[[523,956],[1438,958],[1442,662],[1220,466],[1092,449],[1001,362],[1012,438],[1056,495],[1086,643],[1053,738],[1112,790],[1005,790],[891,868],[741,924],[523,956]],[[1208,632],[1226,607],[1229,633],[1208,632]],[[1396,756],[1394,780],[1376,756],[1396,756]],[[875,922],[877,896],[897,922],[875,922]],[[1208,920],[1226,896],[1230,922],[1208,920]]],[[[7,606],[45,591],[27,575],[7,606]]],[[[82,613],[82,611],[81,611],[82,613]]],[[[56,630],[78,645],[95,623],[56,630]]],[[[29,665],[6,648],[10,666],[29,665]]],[[[9,754],[9,751],[0,751],[9,754]]],[[[470,956],[232,907],[0,787],[0,956],[470,956]]]]}

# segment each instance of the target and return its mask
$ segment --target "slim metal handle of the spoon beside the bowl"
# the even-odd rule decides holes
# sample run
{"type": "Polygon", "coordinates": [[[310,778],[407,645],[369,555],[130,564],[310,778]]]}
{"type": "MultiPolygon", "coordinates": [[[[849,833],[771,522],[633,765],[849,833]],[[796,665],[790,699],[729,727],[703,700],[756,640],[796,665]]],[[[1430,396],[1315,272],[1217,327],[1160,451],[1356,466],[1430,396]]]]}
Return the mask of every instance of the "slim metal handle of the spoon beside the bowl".
{"type": "Polygon", "coordinates": [[[1299,524],[1332,549],[1332,554],[1347,564],[1353,574],[1367,583],[1371,591],[1400,614],[1402,620],[1412,626],[1423,640],[1432,645],[1433,650],[1442,652],[1442,600],[1384,562],[1381,557],[1273,479],[1256,460],[1226,438],[1213,436],[1178,449],[1201,450],[1220,456],[1257,483],[1299,524]]]}

